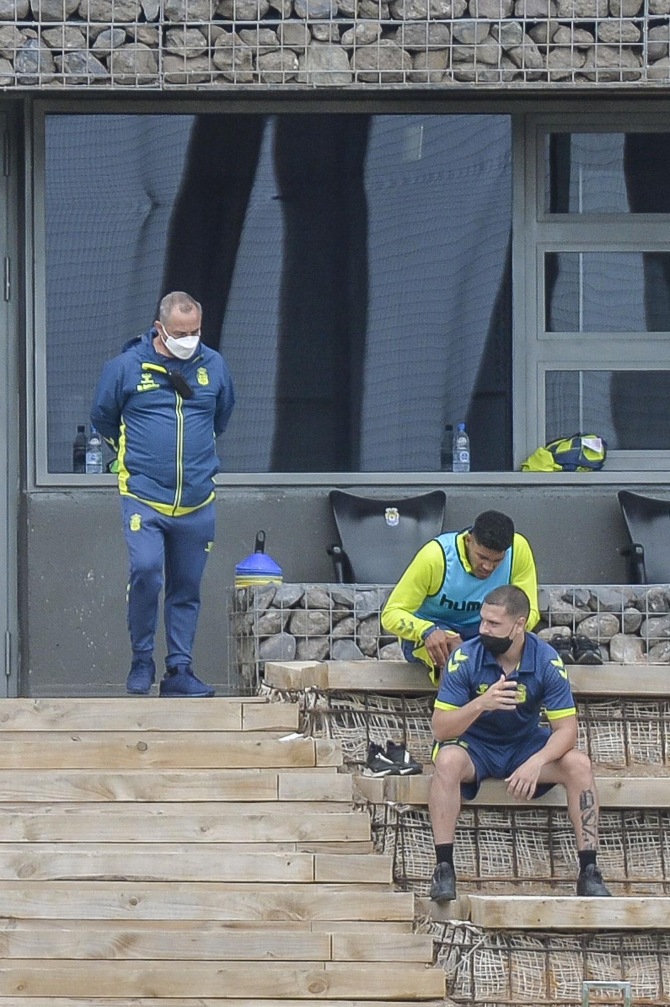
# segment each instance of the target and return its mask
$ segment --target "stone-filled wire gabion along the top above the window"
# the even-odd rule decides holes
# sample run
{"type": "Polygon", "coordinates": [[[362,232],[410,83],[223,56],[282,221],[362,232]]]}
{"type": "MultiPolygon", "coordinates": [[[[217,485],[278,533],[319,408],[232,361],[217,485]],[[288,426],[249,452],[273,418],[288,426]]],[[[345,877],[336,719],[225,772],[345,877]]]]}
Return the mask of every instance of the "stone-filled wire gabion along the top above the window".
{"type": "Polygon", "coordinates": [[[670,83],[670,0],[0,0],[0,87],[670,83]]]}

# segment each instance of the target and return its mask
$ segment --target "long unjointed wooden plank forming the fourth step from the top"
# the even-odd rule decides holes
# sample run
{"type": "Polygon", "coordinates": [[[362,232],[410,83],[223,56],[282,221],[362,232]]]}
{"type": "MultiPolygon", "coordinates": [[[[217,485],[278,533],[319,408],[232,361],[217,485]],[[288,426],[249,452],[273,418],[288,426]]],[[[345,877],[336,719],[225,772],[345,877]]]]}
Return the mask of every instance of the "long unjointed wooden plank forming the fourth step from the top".
{"type": "Polygon", "coordinates": [[[286,811],[266,814],[257,810],[236,815],[231,811],[234,807],[225,803],[2,805],[0,843],[298,843],[319,842],[325,837],[330,842],[370,839],[370,818],[361,812],[296,814],[295,806],[286,805],[286,811]]]}

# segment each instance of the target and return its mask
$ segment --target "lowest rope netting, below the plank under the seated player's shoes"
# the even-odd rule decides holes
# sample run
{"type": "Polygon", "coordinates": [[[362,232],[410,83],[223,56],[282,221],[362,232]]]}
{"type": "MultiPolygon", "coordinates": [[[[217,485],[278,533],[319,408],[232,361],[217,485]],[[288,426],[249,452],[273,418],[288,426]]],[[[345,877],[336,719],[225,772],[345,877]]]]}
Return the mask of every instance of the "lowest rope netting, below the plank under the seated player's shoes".
{"type": "MultiPolygon", "coordinates": [[[[670,931],[556,933],[425,921],[449,996],[480,1007],[581,1007],[584,980],[629,982],[636,1005],[670,1004],[670,931]]],[[[620,993],[591,1004],[621,1004],[620,993]]]]}

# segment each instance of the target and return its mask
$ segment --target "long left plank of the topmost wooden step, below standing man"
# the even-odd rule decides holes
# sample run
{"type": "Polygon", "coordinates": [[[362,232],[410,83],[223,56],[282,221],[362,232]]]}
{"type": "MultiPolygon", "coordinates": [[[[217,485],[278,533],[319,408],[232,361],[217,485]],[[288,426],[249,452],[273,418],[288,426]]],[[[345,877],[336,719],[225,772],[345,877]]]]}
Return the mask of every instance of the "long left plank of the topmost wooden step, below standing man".
{"type": "Polygon", "coordinates": [[[166,703],[150,696],[113,699],[3,699],[0,731],[240,731],[242,705],[261,697],[166,703]]]}

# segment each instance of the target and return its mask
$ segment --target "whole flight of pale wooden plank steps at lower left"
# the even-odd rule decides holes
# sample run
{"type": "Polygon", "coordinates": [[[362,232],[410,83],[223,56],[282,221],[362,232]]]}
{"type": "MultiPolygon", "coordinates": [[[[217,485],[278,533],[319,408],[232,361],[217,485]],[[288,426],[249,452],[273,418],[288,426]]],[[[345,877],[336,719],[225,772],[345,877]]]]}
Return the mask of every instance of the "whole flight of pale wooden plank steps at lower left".
{"type": "Polygon", "coordinates": [[[0,1007],[442,1007],[340,745],[260,698],[0,705],[0,1007]]]}

